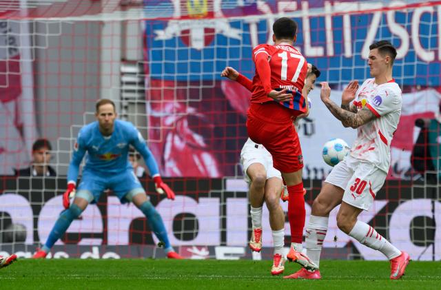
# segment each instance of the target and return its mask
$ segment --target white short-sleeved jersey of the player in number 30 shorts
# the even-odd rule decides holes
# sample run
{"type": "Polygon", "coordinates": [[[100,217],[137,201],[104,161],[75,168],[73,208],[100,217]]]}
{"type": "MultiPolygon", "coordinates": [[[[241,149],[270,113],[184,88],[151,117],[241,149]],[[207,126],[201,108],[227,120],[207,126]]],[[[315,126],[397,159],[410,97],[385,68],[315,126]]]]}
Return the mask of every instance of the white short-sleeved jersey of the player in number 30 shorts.
{"type": "Polygon", "coordinates": [[[377,85],[367,79],[356,92],[353,105],[358,110],[369,108],[377,118],[358,127],[358,136],[351,147],[353,158],[369,161],[384,172],[391,163],[391,141],[400,121],[402,95],[395,80],[377,85]]]}

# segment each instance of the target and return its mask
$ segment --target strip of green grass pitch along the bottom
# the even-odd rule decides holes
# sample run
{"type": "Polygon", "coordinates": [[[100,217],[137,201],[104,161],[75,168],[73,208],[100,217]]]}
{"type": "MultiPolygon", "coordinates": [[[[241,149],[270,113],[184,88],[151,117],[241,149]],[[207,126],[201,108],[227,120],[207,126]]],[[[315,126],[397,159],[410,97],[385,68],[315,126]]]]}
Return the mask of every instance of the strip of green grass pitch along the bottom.
{"type": "MultiPolygon", "coordinates": [[[[1,289],[441,289],[441,262],[411,261],[402,280],[389,262],[323,260],[322,280],[271,276],[271,261],[30,260],[0,269],[1,289]]],[[[285,265],[285,274],[300,266],[285,265]]]]}

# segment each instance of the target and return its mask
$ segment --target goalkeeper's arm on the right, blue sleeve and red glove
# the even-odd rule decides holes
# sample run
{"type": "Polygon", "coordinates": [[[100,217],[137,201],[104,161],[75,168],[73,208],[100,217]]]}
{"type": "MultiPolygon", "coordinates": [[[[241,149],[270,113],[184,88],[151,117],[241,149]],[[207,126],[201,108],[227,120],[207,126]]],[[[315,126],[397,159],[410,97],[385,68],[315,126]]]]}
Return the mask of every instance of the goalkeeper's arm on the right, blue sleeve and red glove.
{"type": "Polygon", "coordinates": [[[156,192],[158,192],[158,194],[167,194],[167,198],[174,200],[174,192],[163,182],[161,175],[159,175],[158,163],[156,163],[152,152],[145,144],[143,136],[138,130],[136,130],[136,128],[134,128],[132,136],[132,145],[139,152],[139,154],[143,156],[145,165],[147,165],[150,175],[154,180],[156,192]]]}

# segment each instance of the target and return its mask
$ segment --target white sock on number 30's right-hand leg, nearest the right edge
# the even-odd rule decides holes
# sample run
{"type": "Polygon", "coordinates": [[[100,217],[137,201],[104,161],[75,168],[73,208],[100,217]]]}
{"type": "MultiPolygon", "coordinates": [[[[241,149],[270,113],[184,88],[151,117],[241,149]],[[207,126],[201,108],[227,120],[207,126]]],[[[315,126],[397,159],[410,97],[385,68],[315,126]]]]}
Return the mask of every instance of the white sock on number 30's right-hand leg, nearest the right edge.
{"type": "Polygon", "coordinates": [[[388,240],[377,233],[373,227],[366,222],[357,220],[356,225],[349,233],[349,236],[358,240],[358,242],[366,245],[371,249],[378,250],[384,253],[389,260],[401,255],[401,251],[394,247],[388,240]]]}

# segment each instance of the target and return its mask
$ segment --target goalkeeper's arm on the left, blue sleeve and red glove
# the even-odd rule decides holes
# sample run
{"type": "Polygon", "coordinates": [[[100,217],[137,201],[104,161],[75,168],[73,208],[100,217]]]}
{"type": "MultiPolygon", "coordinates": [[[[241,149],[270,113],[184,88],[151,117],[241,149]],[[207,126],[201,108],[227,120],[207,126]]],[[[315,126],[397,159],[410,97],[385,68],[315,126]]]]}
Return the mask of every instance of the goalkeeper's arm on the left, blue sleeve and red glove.
{"type": "Polygon", "coordinates": [[[74,145],[74,152],[72,154],[72,160],[70,160],[68,169],[68,188],[63,194],[63,207],[68,209],[70,206],[70,198],[74,197],[76,189],[76,180],[78,179],[78,174],[80,170],[81,160],[83,160],[84,154],[86,152],[85,140],[81,131],[76,138],[74,145]]]}

